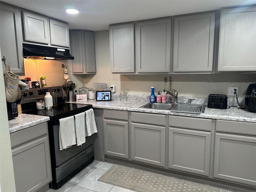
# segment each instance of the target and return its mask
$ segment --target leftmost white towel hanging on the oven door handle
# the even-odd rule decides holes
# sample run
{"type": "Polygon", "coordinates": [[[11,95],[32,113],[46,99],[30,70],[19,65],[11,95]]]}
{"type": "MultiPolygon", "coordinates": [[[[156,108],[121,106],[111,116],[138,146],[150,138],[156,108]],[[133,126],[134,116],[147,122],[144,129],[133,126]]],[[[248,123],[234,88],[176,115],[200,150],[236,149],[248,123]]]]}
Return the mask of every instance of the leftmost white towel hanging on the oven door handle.
{"type": "Polygon", "coordinates": [[[60,119],[59,144],[60,150],[76,144],[74,116],[60,119]]]}

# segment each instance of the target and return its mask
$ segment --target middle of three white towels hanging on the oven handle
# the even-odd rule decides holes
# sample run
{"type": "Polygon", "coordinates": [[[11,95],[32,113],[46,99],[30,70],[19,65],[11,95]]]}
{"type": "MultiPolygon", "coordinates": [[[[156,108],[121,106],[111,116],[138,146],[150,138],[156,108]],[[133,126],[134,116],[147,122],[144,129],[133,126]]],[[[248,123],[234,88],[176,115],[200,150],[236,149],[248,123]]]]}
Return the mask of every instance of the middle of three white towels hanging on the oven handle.
{"type": "Polygon", "coordinates": [[[75,115],[76,145],[85,143],[85,112],[75,115]]]}

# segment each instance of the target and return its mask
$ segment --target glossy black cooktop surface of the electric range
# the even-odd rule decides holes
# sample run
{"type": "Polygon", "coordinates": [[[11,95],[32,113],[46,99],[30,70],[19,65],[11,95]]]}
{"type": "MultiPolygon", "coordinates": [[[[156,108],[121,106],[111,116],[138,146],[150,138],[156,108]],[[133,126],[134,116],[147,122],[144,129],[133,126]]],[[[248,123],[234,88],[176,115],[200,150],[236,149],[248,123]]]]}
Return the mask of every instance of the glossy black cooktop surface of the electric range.
{"type": "Polygon", "coordinates": [[[76,104],[76,103],[63,103],[58,104],[57,108],[36,110],[36,108],[31,108],[22,111],[24,114],[42,115],[49,116],[50,119],[64,118],[67,116],[75,115],[80,112],[84,112],[92,108],[90,104],[76,104]]]}

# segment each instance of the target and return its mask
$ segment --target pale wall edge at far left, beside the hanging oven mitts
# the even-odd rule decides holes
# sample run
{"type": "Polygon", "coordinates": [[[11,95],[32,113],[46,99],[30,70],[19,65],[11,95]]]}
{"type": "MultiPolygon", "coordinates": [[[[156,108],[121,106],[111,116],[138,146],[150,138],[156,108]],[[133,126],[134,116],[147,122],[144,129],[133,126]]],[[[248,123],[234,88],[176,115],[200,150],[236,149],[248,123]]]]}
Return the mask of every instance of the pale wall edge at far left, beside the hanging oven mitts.
{"type": "MultiPolygon", "coordinates": [[[[1,56],[1,52],[0,52],[1,56]]],[[[0,57],[2,58],[2,57],[0,57]]],[[[15,192],[2,64],[0,65],[0,191],[15,192]]]]}

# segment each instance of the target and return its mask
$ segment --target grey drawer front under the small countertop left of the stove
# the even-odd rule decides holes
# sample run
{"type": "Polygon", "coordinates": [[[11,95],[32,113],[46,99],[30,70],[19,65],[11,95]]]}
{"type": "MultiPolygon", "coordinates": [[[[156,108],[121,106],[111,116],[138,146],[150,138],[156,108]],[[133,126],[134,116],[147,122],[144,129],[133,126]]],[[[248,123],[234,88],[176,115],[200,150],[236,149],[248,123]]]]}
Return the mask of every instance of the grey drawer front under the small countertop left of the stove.
{"type": "Polygon", "coordinates": [[[17,146],[47,133],[47,122],[13,132],[10,134],[11,146],[17,146]]]}

